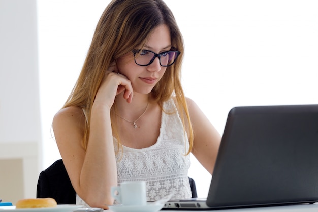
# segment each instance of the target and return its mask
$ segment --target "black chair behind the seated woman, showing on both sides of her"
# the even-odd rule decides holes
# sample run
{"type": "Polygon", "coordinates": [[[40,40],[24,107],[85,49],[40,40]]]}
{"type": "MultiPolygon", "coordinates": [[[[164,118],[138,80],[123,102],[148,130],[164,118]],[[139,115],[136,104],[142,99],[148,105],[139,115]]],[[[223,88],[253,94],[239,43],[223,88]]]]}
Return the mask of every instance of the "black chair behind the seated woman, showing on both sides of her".
{"type": "MultiPolygon", "coordinates": [[[[195,181],[189,177],[192,197],[198,197],[195,181]]],[[[57,204],[75,204],[76,192],[62,159],[42,171],[37,185],[37,198],[54,198],[57,204]]]]}

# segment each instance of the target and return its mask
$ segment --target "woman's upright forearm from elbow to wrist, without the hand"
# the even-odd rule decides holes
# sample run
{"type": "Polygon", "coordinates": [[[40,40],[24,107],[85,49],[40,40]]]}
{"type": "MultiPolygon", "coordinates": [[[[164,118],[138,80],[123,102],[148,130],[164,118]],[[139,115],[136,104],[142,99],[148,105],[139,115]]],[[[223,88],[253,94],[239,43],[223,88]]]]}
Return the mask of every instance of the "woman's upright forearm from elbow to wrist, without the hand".
{"type": "Polygon", "coordinates": [[[105,208],[113,203],[110,188],[117,185],[110,109],[94,105],[90,120],[90,134],[80,176],[80,188],[81,192],[85,192],[83,200],[86,203],[93,207],[105,208]]]}

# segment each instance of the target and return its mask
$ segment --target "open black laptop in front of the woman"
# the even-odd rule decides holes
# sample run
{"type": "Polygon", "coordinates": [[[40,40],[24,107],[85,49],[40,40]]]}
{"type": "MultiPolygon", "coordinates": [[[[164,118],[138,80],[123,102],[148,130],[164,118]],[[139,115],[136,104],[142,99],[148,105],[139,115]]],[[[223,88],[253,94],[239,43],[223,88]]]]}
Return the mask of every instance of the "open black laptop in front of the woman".
{"type": "Polygon", "coordinates": [[[164,209],[229,209],[318,202],[318,105],[232,108],[206,199],[164,209]]]}

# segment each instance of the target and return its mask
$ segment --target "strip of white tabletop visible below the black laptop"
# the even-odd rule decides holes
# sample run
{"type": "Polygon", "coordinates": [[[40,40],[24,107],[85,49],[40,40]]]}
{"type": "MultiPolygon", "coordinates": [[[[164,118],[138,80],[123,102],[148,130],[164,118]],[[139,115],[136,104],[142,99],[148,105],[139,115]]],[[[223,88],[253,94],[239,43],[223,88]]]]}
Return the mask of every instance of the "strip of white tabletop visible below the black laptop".
{"type": "MultiPolygon", "coordinates": [[[[165,212],[189,212],[196,210],[163,210],[165,212]]],[[[221,212],[307,212],[315,211],[318,212],[318,204],[297,204],[297,205],[286,205],[286,206],[272,206],[272,207],[254,207],[254,208],[240,208],[240,209],[224,209],[224,210],[197,210],[197,211],[221,211],[221,212]]]]}

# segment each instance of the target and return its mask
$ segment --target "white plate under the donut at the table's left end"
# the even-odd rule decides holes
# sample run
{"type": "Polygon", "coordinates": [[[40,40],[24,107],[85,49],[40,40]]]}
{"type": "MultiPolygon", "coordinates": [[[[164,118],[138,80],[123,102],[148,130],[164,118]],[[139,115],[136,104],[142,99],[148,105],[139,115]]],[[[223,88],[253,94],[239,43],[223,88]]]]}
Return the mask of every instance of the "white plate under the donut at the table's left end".
{"type": "MultiPolygon", "coordinates": [[[[5,206],[4,206],[5,207],[5,206]]],[[[0,207],[1,212],[73,212],[83,205],[57,205],[56,207],[42,207],[42,208],[24,208],[15,209],[15,206],[8,206],[6,208],[0,207]]]]}

